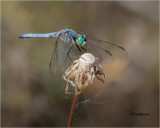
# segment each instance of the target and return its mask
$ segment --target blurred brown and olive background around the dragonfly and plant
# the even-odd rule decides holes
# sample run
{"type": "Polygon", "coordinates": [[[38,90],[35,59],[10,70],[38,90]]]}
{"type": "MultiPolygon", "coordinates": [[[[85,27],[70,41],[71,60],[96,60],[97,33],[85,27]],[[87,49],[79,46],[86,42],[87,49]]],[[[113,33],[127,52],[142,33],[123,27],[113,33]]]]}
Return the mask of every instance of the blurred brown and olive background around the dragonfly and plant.
{"type": "MultiPolygon", "coordinates": [[[[105,83],[95,79],[73,126],[159,125],[159,2],[1,2],[1,125],[66,127],[72,97],[64,94],[63,72],[51,75],[54,39],[19,39],[24,33],[65,28],[94,34],[128,52],[103,64],[105,83]],[[97,91],[98,90],[98,91],[97,91]],[[104,102],[105,101],[105,102],[104,102]],[[149,113],[131,116],[130,113],[149,113]],[[85,113],[88,116],[80,116],[85,113]]],[[[86,94],[87,95],[87,94],[86,94]]]]}

